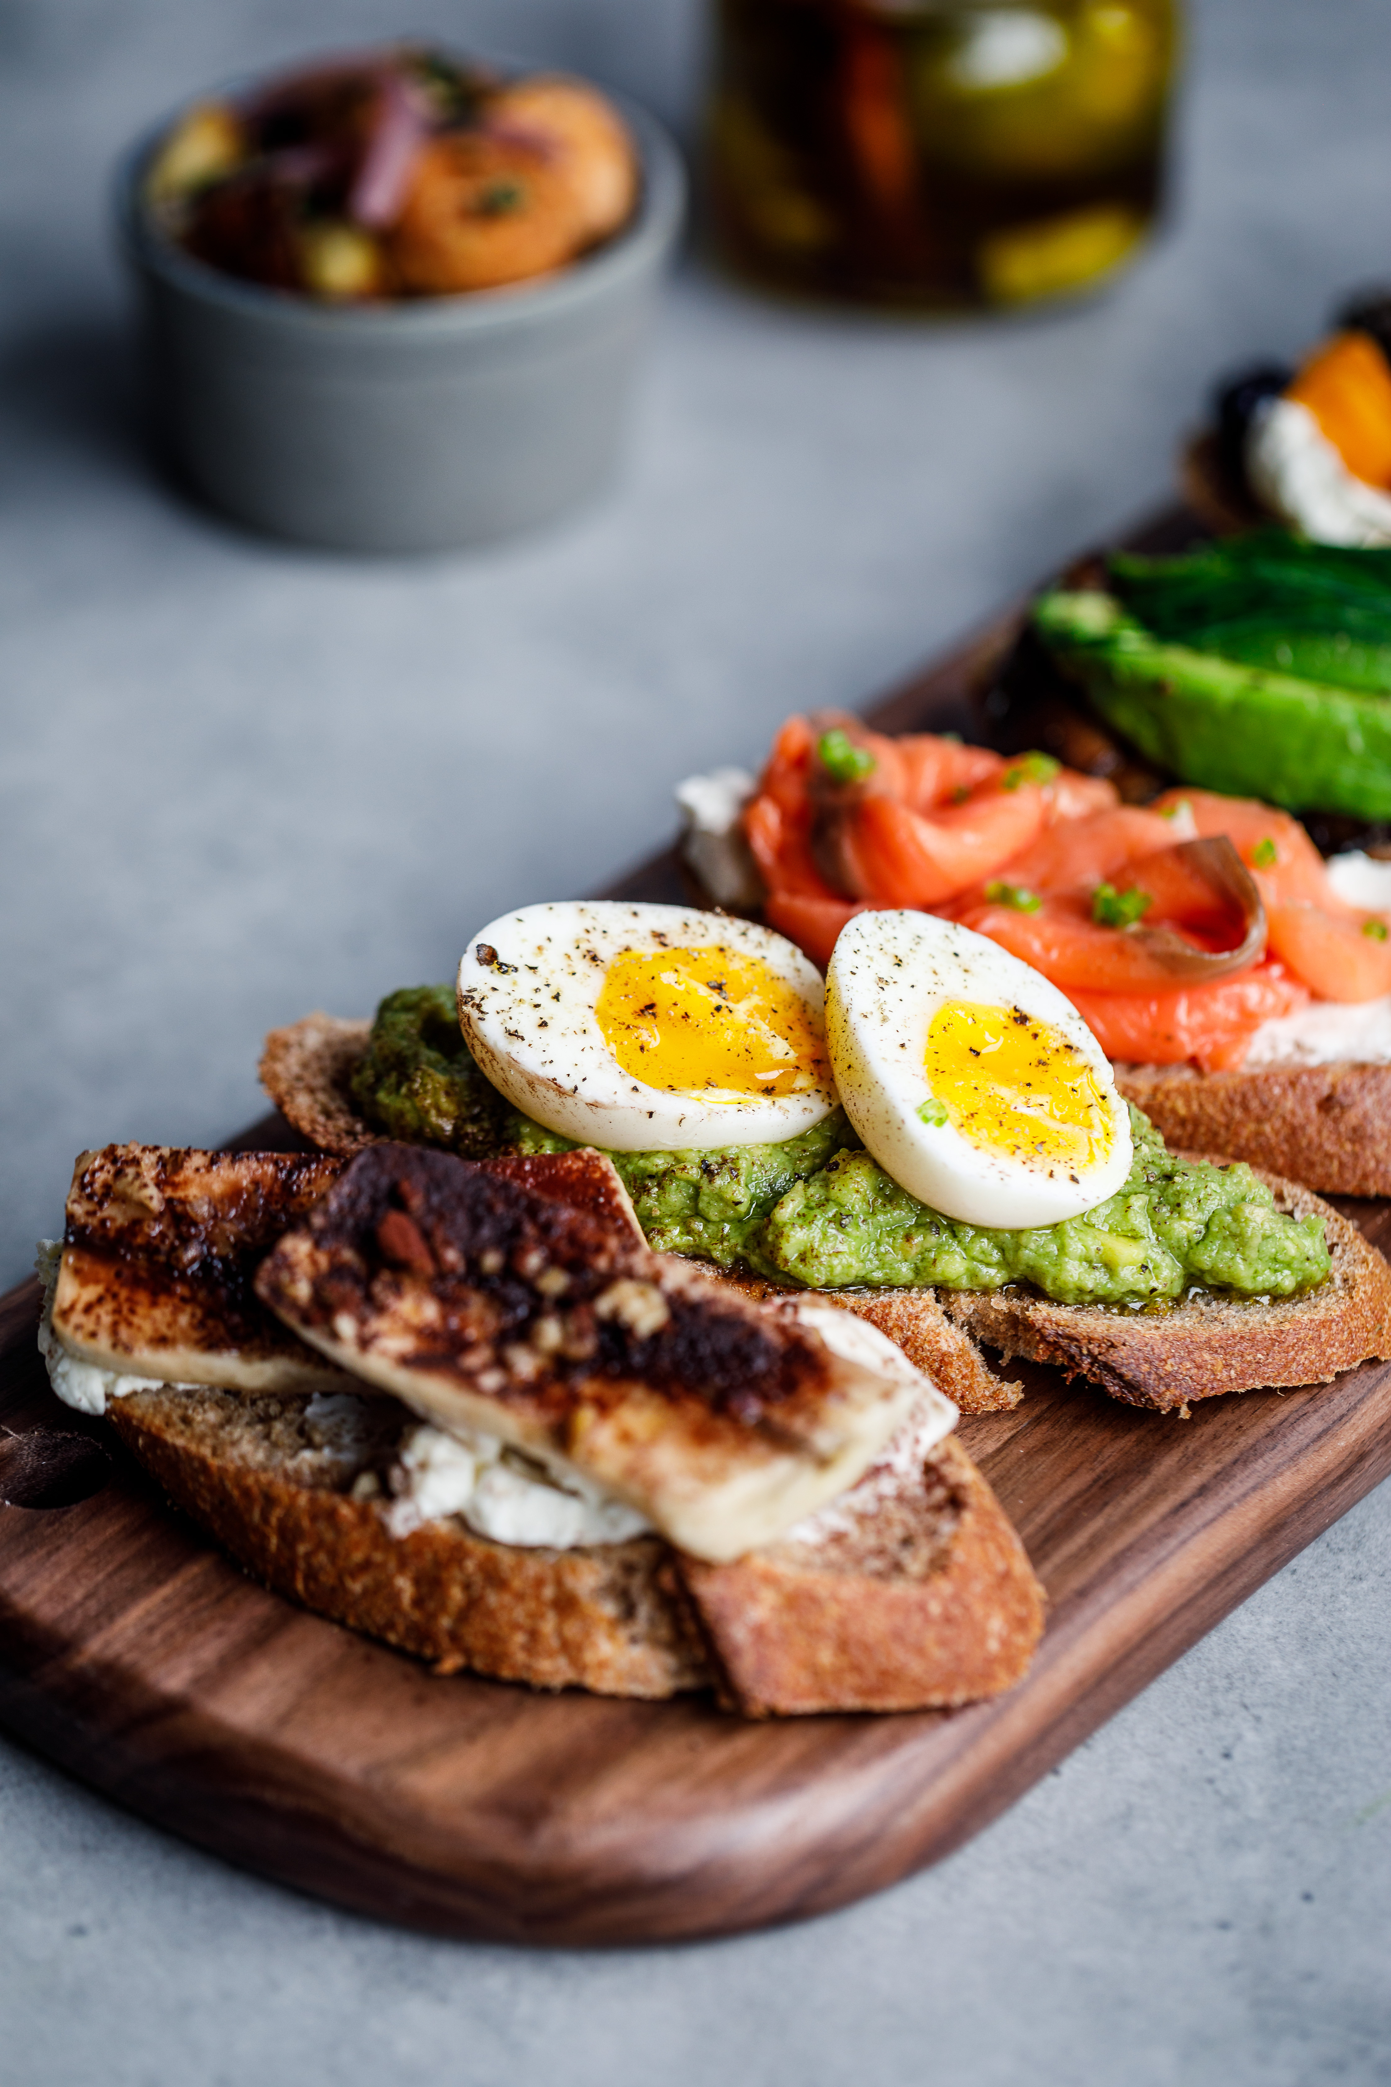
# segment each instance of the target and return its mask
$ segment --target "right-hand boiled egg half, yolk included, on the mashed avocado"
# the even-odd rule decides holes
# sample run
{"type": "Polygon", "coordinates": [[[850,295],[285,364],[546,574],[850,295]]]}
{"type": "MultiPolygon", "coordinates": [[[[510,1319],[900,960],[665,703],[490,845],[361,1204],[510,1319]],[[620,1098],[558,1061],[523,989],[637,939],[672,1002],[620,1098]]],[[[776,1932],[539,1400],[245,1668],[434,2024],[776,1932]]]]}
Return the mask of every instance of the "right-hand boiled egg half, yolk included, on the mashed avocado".
{"type": "Polygon", "coordinates": [[[826,979],[845,1112],[884,1173],[943,1217],[1080,1217],[1130,1171],[1130,1119],[1070,1000],[984,935],[855,914],[826,979]]]}

